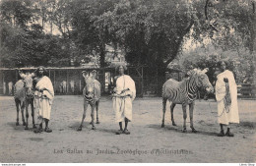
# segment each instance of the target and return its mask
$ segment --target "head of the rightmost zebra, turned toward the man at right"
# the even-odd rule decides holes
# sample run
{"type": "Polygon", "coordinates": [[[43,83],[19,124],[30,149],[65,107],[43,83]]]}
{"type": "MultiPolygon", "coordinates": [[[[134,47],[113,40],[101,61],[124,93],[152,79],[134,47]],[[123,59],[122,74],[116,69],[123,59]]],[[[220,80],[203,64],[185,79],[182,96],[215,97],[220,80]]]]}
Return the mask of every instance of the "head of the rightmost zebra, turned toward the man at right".
{"type": "Polygon", "coordinates": [[[195,74],[197,76],[197,80],[196,80],[197,86],[205,88],[207,93],[213,93],[214,92],[214,87],[209,82],[209,78],[206,75],[207,72],[208,72],[208,68],[204,69],[203,71],[197,70],[195,72],[195,74]]]}

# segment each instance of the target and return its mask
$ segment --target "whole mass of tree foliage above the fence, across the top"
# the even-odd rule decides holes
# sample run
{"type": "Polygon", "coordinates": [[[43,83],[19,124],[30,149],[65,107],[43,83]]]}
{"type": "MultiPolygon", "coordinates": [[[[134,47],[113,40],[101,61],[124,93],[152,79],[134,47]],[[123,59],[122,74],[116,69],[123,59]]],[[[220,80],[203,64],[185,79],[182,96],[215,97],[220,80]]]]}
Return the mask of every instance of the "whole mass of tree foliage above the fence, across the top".
{"type": "MultiPolygon", "coordinates": [[[[248,0],[2,0],[1,65],[68,66],[70,59],[78,64],[99,55],[102,67],[110,44],[123,48],[131,65],[167,67],[186,38],[200,43],[210,38],[220,54],[237,52],[240,45],[252,53],[253,5],[248,0]],[[46,34],[46,24],[61,35],[46,34]]],[[[203,62],[204,55],[201,59],[190,62],[203,62]]]]}

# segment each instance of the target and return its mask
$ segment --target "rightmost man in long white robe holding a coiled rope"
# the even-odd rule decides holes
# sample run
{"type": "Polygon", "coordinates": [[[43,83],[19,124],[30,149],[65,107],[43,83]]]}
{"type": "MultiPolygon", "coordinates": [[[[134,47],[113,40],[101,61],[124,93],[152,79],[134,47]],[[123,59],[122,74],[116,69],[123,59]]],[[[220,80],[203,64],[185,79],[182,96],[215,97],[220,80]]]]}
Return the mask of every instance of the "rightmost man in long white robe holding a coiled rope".
{"type": "Polygon", "coordinates": [[[217,76],[216,99],[218,103],[218,122],[221,126],[221,133],[218,137],[233,137],[230,132],[230,123],[239,123],[238,105],[237,105],[237,87],[234,81],[233,73],[226,69],[226,63],[221,61],[221,72],[217,76]],[[224,134],[224,125],[227,131],[224,134]]]}

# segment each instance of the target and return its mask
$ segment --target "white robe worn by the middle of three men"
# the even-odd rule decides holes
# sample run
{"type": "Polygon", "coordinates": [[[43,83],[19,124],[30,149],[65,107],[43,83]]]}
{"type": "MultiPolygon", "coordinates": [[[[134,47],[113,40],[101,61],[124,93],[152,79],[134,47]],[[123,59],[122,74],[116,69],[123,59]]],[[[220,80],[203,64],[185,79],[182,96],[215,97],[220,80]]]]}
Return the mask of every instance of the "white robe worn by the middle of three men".
{"type": "Polygon", "coordinates": [[[124,118],[132,121],[132,101],[135,97],[136,88],[132,78],[127,75],[119,77],[116,81],[116,95],[113,97],[113,110],[115,111],[116,122],[122,122],[124,118]],[[121,92],[127,88],[129,90],[121,92]]]}

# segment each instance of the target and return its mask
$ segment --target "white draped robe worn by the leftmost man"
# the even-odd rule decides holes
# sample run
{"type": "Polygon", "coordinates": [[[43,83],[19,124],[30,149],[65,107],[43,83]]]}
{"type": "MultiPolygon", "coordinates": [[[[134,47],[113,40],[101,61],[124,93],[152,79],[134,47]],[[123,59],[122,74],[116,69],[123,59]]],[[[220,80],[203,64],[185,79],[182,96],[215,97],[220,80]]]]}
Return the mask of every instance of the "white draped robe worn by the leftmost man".
{"type": "Polygon", "coordinates": [[[46,90],[34,92],[34,109],[37,112],[38,120],[42,118],[50,119],[51,105],[54,97],[54,90],[50,79],[46,76],[36,83],[35,88],[41,89],[45,87],[46,90]]]}

